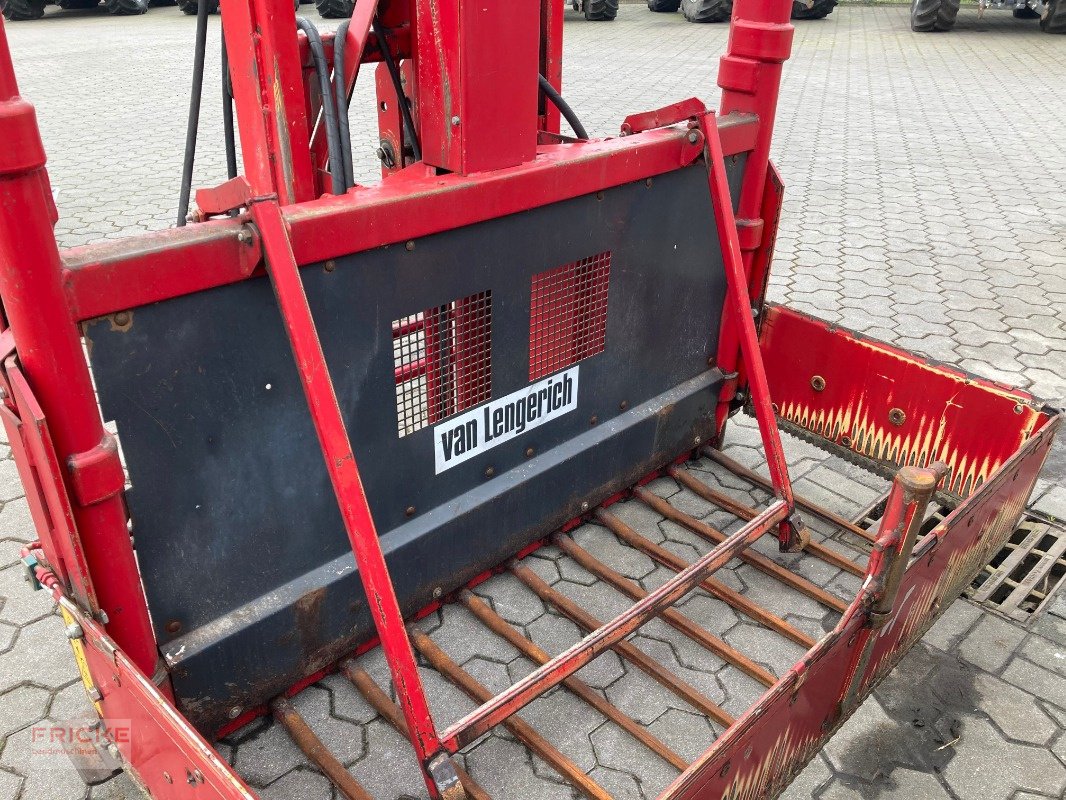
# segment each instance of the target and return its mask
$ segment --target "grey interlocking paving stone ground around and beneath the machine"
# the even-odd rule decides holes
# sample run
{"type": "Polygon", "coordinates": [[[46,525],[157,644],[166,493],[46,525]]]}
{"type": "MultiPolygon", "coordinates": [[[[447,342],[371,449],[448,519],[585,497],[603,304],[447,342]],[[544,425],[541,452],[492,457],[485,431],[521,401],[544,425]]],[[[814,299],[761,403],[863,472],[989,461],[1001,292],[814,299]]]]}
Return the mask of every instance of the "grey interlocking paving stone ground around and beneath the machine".
{"type": "MultiPolygon", "coordinates": [[[[126,19],[51,12],[36,22],[7,26],[21,86],[37,107],[49,151],[62,244],[172,224],[192,32],[192,20],[173,7],[126,19]]],[[[679,15],[655,15],[640,5],[624,6],[609,26],[570,18],[565,94],[594,134],[613,133],[627,113],[666,101],[698,95],[713,102],[726,35],[724,27],[687,25],[679,15]]],[[[217,41],[216,23],[211,41],[217,41]]],[[[209,58],[208,69],[217,75],[216,59],[209,58]]],[[[1003,12],[979,21],[974,10],[964,9],[946,35],[911,34],[900,6],[841,7],[827,20],[798,25],[775,144],[788,190],[771,297],[1062,404],[1066,86],[1050,77],[1064,71],[1062,37],[1043,35],[1034,22],[1003,12]]],[[[212,92],[199,183],[224,177],[212,92]]],[[[370,107],[356,108],[356,163],[370,179],[370,107]]],[[[743,457],[753,443],[750,426],[738,426],[736,434],[736,453],[743,457]]],[[[834,479],[839,464],[829,462],[838,468],[825,470],[824,455],[798,442],[788,447],[801,491],[827,494],[842,511],[861,502],[855,482],[873,491],[865,474],[847,471],[853,483],[834,479]]],[[[32,526],[5,446],[0,458],[0,800],[132,800],[135,790],[124,779],[87,793],[69,772],[26,769],[30,725],[77,717],[85,701],[62,624],[42,595],[26,590],[14,565],[32,526]]],[[[1036,506],[1066,517],[1064,481],[1060,447],[1037,486],[1036,506]]],[[[669,524],[661,528],[667,535],[669,524]]],[[[655,571],[634,577],[656,580],[655,571]]],[[[554,579],[583,591],[580,575],[556,573],[554,579]]],[[[507,587],[498,591],[506,594],[507,587]]],[[[699,614],[702,602],[690,601],[687,611],[699,614]]],[[[745,650],[763,646],[757,629],[721,610],[704,611],[709,627],[745,650]]],[[[561,628],[543,608],[516,601],[510,613],[538,640],[561,628]]],[[[794,621],[818,624],[802,615],[794,621]]],[[[718,686],[727,706],[743,704],[716,679],[690,669],[695,661],[683,646],[662,650],[663,638],[642,644],[687,670],[687,677],[704,681],[708,694],[718,686]]],[[[498,689],[521,673],[492,646],[461,655],[498,689]]],[[[770,646],[759,652],[759,660],[775,669],[796,655],[770,646]]],[[[672,742],[679,750],[713,735],[691,709],[653,716],[648,692],[632,672],[612,659],[601,661],[589,683],[619,705],[632,702],[634,716],[643,707],[644,721],[662,736],[683,732],[672,742]]],[[[302,694],[301,707],[320,732],[334,732],[327,738],[348,742],[343,755],[353,769],[406,757],[392,732],[330,681],[302,694]],[[358,739],[344,736],[346,725],[359,727],[358,739]]],[[[439,694],[440,702],[461,703],[443,686],[439,694]]],[[[565,736],[572,757],[594,767],[596,780],[632,795],[625,750],[610,739],[609,729],[588,724],[555,733],[565,736]]],[[[265,786],[266,797],[329,797],[328,785],[300,766],[280,733],[263,725],[227,753],[251,781],[265,786]]],[[[495,775],[492,789],[510,783],[535,786],[530,797],[569,797],[505,735],[486,740],[466,762],[471,771],[495,775]]],[[[1053,798],[1066,789],[1064,764],[1066,602],[1029,627],[959,602],[787,797],[1053,798]]],[[[382,798],[418,796],[417,782],[390,783],[401,773],[376,769],[360,778],[382,798]]]]}

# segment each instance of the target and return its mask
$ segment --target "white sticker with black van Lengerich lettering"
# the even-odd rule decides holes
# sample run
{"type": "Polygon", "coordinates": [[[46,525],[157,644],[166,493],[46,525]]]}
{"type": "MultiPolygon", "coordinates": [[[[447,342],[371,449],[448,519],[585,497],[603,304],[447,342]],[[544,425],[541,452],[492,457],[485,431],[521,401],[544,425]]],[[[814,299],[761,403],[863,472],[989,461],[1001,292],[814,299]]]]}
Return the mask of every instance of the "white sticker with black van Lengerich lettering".
{"type": "Polygon", "coordinates": [[[578,370],[570,367],[436,426],[437,475],[577,409],[578,370]]]}

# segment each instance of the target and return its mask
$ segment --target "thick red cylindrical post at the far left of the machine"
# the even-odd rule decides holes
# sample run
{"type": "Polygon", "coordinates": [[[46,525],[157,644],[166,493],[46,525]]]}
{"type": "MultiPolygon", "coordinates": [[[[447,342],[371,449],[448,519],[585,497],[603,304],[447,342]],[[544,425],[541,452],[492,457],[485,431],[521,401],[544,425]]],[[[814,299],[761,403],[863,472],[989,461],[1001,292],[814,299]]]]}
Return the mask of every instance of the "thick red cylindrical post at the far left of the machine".
{"type": "Polygon", "coordinates": [[[81,336],[63,292],[45,149],[33,107],[18,95],[2,20],[0,142],[4,143],[0,148],[0,297],[19,362],[65,467],[98,615],[118,646],[151,677],[158,653],[126,526],[122,467],[100,419],[81,336]],[[101,475],[108,477],[103,483],[95,480],[101,475]]]}

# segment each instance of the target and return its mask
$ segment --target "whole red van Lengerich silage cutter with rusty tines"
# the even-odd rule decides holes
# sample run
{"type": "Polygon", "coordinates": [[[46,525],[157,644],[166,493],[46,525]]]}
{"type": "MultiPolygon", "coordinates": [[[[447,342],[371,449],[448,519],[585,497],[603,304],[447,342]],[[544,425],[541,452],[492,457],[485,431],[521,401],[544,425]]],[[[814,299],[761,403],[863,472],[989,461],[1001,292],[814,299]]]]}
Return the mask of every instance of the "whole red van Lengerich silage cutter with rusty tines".
{"type": "Polygon", "coordinates": [[[83,768],[255,798],[261,759],[212,742],[270,730],[359,800],[775,796],[1000,549],[1062,423],[764,302],[789,0],[737,0],[716,113],[607,139],[560,96],[555,0],[358,0],[336,36],[222,3],[243,175],[62,252],[0,35],[0,414],[102,720],[83,768]],[[769,479],[721,450],[742,407],[769,479]],[[779,427],[887,476],[879,524],[796,496],[779,427]],[[589,720],[636,755],[568,752],[589,720]]]}

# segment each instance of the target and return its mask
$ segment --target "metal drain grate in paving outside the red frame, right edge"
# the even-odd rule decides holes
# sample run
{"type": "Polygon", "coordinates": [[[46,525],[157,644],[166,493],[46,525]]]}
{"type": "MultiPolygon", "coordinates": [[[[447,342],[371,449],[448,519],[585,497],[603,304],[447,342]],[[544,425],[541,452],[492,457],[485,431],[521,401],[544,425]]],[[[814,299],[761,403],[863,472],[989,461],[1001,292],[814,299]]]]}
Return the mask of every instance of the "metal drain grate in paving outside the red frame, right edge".
{"type": "Polygon", "coordinates": [[[1066,525],[1027,511],[967,590],[975,603],[1027,622],[1066,582],[1066,525]]]}

